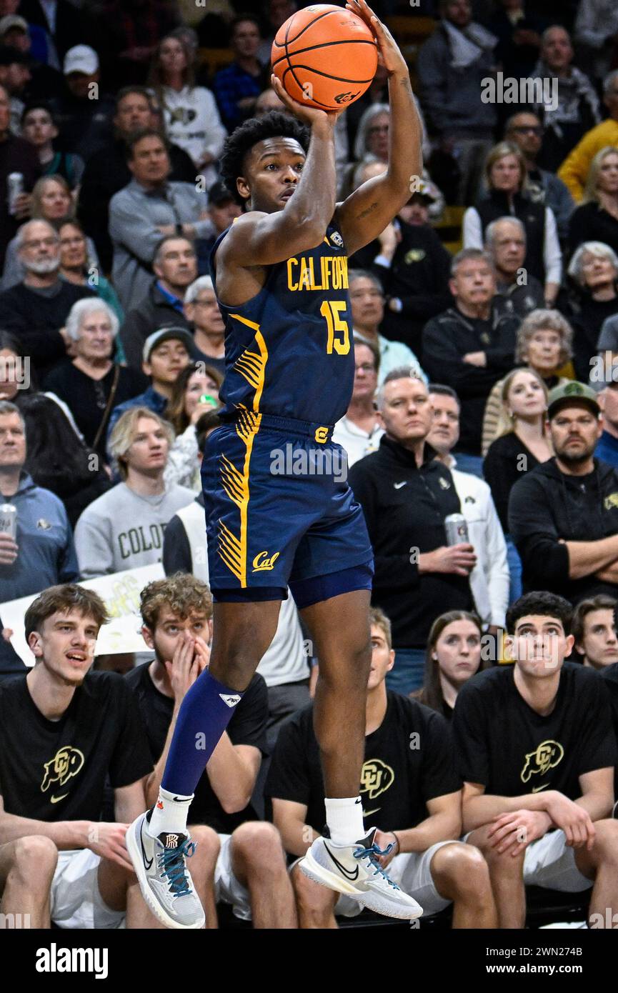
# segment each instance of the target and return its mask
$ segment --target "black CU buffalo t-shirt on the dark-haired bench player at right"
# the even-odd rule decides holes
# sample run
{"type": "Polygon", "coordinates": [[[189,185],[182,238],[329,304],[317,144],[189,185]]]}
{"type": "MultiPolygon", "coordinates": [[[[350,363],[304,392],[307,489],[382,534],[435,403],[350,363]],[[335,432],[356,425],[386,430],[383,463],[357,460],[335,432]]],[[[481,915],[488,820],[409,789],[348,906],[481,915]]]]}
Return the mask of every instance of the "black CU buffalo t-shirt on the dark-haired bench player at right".
{"type": "Polygon", "coordinates": [[[581,796],[579,777],[618,761],[607,693],[600,675],[564,662],[555,706],[541,716],[514,681],[515,666],[473,676],[454,714],[459,772],[498,796],[557,789],[581,796]]]}

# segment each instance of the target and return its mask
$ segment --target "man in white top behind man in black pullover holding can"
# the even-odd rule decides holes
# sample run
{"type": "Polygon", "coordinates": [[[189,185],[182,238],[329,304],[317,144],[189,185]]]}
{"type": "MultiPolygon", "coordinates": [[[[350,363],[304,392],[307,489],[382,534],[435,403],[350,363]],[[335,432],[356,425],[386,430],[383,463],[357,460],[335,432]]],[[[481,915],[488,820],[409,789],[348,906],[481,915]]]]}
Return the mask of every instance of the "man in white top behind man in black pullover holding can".
{"type": "Polygon", "coordinates": [[[431,383],[429,402],[433,424],[427,442],[451,471],[461,512],[468,523],[470,544],[477,564],[470,574],[470,588],[481,620],[496,633],[504,628],[509,606],[507,545],[487,483],[471,473],[461,473],[450,454],[459,438],[459,398],[450,386],[431,383]]]}

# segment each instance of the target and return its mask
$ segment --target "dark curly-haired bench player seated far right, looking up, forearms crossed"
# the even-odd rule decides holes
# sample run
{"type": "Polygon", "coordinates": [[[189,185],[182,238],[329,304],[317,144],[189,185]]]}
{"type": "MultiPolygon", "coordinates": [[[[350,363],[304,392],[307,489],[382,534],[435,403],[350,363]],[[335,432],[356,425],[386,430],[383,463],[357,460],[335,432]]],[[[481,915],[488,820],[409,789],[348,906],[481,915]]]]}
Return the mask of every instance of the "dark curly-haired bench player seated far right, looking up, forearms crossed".
{"type": "Polygon", "coordinates": [[[507,613],[515,665],[479,673],[457,697],[464,830],[488,861],[501,927],[524,926],[525,884],[593,886],[590,921],[618,912],[616,741],[601,676],[564,662],[570,618],[562,597],[521,597],[507,613]]]}

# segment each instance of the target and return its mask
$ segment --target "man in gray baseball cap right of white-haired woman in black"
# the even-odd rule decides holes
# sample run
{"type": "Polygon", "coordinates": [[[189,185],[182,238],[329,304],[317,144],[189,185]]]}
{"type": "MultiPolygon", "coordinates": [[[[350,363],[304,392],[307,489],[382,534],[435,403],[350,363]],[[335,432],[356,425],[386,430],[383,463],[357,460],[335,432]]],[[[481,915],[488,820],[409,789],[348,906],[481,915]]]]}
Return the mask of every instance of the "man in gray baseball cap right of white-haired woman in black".
{"type": "Polygon", "coordinates": [[[113,408],[107,426],[108,440],[118,418],[131,407],[147,407],[163,416],[174,383],[188,364],[193,349],[193,335],[187,328],[159,328],[148,336],[142,350],[142,371],[150,378],[150,385],[139,396],[113,408]]]}

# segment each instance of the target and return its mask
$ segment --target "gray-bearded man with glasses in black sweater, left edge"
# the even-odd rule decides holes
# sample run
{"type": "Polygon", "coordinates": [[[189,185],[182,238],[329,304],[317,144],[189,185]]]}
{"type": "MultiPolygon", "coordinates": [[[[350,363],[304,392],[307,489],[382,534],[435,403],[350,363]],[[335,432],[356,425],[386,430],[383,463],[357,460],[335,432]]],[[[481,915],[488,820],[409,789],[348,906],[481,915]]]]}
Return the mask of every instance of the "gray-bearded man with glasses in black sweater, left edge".
{"type": "Polygon", "coordinates": [[[96,296],[60,279],[60,237],[47,220],[29,220],[18,231],[23,282],[0,293],[0,328],[20,342],[41,378],[67,355],[65,322],[77,300],[96,296]]]}

